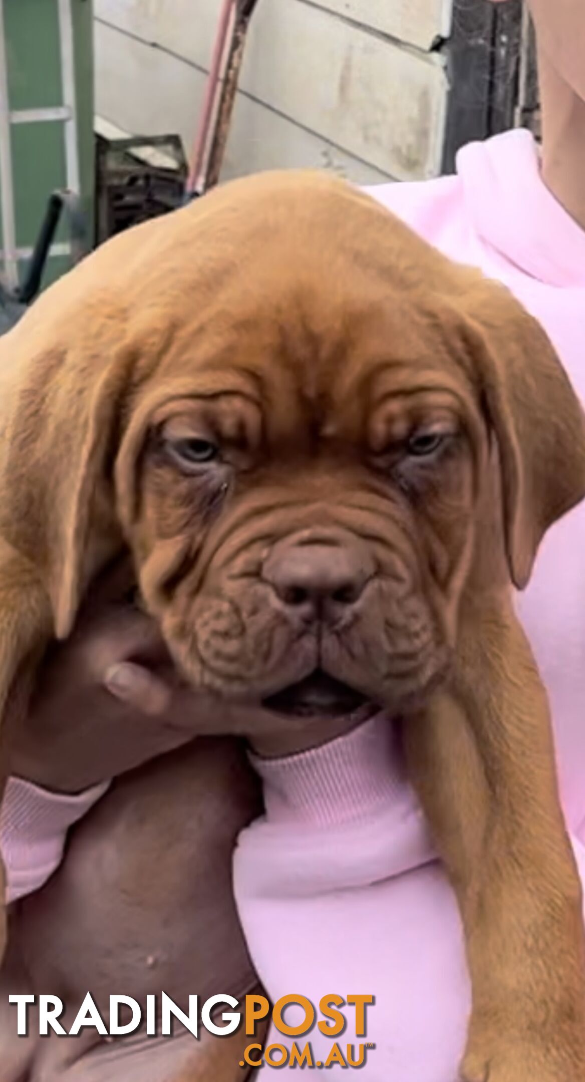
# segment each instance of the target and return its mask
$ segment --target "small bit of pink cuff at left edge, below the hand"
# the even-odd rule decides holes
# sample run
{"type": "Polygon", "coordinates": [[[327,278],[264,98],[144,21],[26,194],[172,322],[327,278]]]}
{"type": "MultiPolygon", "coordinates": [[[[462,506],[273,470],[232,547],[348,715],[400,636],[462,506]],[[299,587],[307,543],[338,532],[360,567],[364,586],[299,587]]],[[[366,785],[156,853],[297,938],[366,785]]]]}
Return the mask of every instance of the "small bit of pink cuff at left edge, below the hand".
{"type": "Polygon", "coordinates": [[[93,786],[68,795],[9,778],[0,807],[0,852],[6,869],[8,901],[32,894],[58,868],[69,827],[81,819],[109,787],[93,786]]]}

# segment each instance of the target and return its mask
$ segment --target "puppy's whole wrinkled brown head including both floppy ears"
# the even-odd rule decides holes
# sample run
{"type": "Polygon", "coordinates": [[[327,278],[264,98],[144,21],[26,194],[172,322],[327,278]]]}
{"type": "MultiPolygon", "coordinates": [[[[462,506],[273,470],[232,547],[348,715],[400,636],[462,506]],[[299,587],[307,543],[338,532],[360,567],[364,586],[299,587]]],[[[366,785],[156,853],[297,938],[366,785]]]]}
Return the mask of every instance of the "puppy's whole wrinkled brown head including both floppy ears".
{"type": "Polygon", "coordinates": [[[52,378],[79,449],[45,557],[61,633],[99,535],[130,547],[196,686],[403,710],[444,675],[467,585],[523,585],[585,494],[544,332],[340,182],[226,186],[71,277],[52,378]]]}

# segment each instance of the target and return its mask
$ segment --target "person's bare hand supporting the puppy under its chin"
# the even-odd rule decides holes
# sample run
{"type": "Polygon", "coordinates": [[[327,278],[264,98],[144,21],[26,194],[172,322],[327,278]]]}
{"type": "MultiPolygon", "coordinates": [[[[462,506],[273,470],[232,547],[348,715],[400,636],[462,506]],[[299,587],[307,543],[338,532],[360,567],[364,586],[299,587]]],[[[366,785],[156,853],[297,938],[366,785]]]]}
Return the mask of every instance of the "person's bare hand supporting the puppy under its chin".
{"type": "Polygon", "coordinates": [[[284,718],[204,697],[178,675],[155,621],[131,601],[128,569],[96,581],[72,634],[49,650],[11,774],[78,793],[187,743],[241,736],[261,755],[290,755],[351,728],[347,718],[284,718]]]}

